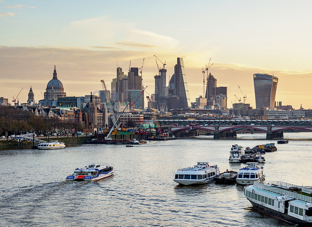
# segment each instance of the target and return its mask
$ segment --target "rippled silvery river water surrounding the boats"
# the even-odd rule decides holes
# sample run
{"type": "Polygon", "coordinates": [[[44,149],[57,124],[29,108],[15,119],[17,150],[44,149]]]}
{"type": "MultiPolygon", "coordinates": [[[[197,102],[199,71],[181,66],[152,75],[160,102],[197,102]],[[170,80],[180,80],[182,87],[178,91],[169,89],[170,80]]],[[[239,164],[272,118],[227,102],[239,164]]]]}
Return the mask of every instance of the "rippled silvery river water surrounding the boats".
{"type": "Polygon", "coordinates": [[[252,147],[275,142],[266,153],[266,180],[312,185],[312,133],[284,133],[288,144],[265,140],[265,134],[237,139],[179,139],[145,145],[83,144],[57,150],[0,151],[0,225],[183,225],[289,226],[257,212],[243,186],[179,186],[178,168],[197,161],[220,171],[246,164],[228,162],[232,144],[252,147]],[[74,169],[90,163],[111,165],[115,176],[97,182],[65,181],[74,169]]]}

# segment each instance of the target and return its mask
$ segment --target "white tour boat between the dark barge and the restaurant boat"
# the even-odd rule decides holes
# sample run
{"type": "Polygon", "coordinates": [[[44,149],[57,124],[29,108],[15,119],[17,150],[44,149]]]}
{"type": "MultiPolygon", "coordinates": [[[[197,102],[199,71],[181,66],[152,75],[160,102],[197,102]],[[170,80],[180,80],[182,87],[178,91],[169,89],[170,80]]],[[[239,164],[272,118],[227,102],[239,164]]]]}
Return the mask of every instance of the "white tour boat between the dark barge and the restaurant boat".
{"type": "Polygon", "coordinates": [[[239,169],[236,178],[237,184],[252,185],[255,181],[263,181],[263,167],[258,167],[257,162],[247,162],[247,166],[239,169]]]}

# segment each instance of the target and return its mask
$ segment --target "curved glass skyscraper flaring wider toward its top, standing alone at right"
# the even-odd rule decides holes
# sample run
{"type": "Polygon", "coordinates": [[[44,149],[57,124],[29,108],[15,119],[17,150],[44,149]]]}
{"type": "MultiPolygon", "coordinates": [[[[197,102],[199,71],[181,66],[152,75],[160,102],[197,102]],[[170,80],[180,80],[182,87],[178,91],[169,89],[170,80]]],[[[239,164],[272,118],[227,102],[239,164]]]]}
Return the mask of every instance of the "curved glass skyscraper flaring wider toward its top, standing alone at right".
{"type": "Polygon", "coordinates": [[[256,97],[256,109],[264,107],[274,108],[275,94],[278,78],[262,73],[256,73],[253,75],[255,97],[256,97]]]}

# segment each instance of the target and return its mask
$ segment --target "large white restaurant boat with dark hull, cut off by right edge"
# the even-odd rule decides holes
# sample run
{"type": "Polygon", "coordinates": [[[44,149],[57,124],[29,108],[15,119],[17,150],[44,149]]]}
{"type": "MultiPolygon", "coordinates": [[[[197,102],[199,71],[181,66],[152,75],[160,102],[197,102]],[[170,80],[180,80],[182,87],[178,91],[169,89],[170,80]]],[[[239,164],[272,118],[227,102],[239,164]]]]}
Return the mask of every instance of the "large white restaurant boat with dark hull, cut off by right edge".
{"type": "Polygon", "coordinates": [[[281,181],[245,186],[244,193],[256,210],[285,222],[312,226],[312,189],[281,181]]]}

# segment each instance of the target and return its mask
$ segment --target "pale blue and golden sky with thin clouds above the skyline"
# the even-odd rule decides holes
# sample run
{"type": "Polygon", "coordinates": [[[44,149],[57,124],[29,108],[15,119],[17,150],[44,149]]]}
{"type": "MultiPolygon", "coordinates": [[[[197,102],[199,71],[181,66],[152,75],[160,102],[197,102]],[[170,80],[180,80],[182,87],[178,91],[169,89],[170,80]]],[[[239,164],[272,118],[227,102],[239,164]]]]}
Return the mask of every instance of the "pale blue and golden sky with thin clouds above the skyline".
{"type": "MultiPolygon", "coordinates": [[[[52,79],[67,96],[97,94],[116,77],[140,68],[154,93],[156,55],[166,61],[167,81],[177,57],[184,60],[191,102],[203,95],[202,68],[255,107],[254,73],[279,78],[275,101],[312,108],[311,1],[8,1],[0,0],[0,96],[35,99],[52,79]],[[241,94],[238,86],[242,89],[241,94]]],[[[147,95],[145,93],[145,95],[147,95]]]]}

